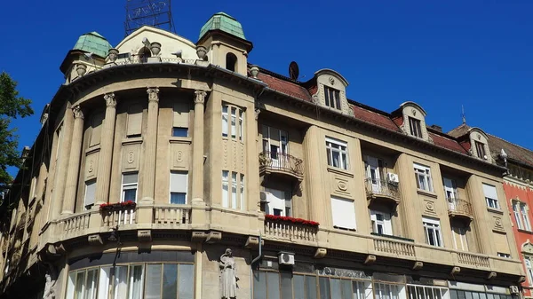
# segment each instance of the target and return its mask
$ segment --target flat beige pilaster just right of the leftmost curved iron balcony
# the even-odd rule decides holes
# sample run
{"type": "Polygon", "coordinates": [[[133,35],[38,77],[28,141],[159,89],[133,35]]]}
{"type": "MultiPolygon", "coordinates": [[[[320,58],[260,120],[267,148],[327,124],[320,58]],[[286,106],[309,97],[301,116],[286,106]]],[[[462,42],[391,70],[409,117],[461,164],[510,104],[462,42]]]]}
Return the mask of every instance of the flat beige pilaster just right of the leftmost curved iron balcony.
{"type": "Polygon", "coordinates": [[[325,143],[323,138],[320,138],[320,129],[312,125],[307,129],[306,137],[304,139],[305,163],[306,163],[306,193],[309,199],[309,217],[324,226],[328,216],[324,213],[324,206],[330,201],[329,196],[324,196],[322,184],[322,168],[319,166],[320,151],[325,152],[325,143]],[[320,144],[319,144],[320,143],[320,144]]]}

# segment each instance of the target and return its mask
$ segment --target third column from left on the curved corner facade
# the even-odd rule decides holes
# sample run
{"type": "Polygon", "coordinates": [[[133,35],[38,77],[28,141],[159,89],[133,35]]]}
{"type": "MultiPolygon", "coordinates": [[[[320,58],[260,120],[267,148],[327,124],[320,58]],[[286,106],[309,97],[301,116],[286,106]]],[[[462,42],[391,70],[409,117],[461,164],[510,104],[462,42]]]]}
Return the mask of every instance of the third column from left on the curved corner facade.
{"type": "Polygon", "coordinates": [[[155,158],[157,150],[157,116],[159,114],[159,89],[148,88],[148,126],[145,143],[142,197],[143,203],[154,202],[155,158]]]}

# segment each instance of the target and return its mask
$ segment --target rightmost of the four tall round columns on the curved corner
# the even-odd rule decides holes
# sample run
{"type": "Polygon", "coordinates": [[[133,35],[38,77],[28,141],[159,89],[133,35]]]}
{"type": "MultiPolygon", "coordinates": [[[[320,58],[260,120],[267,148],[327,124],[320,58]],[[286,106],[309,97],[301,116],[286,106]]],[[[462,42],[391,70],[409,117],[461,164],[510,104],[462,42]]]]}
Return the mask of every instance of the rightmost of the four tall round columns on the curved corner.
{"type": "Polygon", "coordinates": [[[203,203],[203,104],[207,92],[195,90],[195,127],[193,140],[193,203],[203,203]]]}

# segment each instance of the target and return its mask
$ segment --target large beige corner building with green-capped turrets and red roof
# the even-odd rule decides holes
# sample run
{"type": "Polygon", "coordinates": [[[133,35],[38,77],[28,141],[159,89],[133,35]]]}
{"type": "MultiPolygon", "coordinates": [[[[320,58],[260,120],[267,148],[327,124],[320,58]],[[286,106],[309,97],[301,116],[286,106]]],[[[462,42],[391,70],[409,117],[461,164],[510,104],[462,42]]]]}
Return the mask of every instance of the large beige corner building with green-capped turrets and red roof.
{"type": "Polygon", "coordinates": [[[517,296],[482,130],[449,136],[416,103],[388,114],[333,70],[299,83],[251,49],[225,13],[197,43],[83,35],[7,194],[3,296],[517,296]]]}

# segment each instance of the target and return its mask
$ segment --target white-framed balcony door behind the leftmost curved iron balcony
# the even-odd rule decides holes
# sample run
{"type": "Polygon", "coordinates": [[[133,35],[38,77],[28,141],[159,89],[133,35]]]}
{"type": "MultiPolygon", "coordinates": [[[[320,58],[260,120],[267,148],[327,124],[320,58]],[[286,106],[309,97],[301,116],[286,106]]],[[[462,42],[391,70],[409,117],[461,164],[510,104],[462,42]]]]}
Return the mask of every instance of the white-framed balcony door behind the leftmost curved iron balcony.
{"type": "Polygon", "coordinates": [[[272,127],[263,126],[263,151],[271,161],[274,168],[285,167],[289,154],[289,135],[284,130],[278,130],[272,127]]]}

